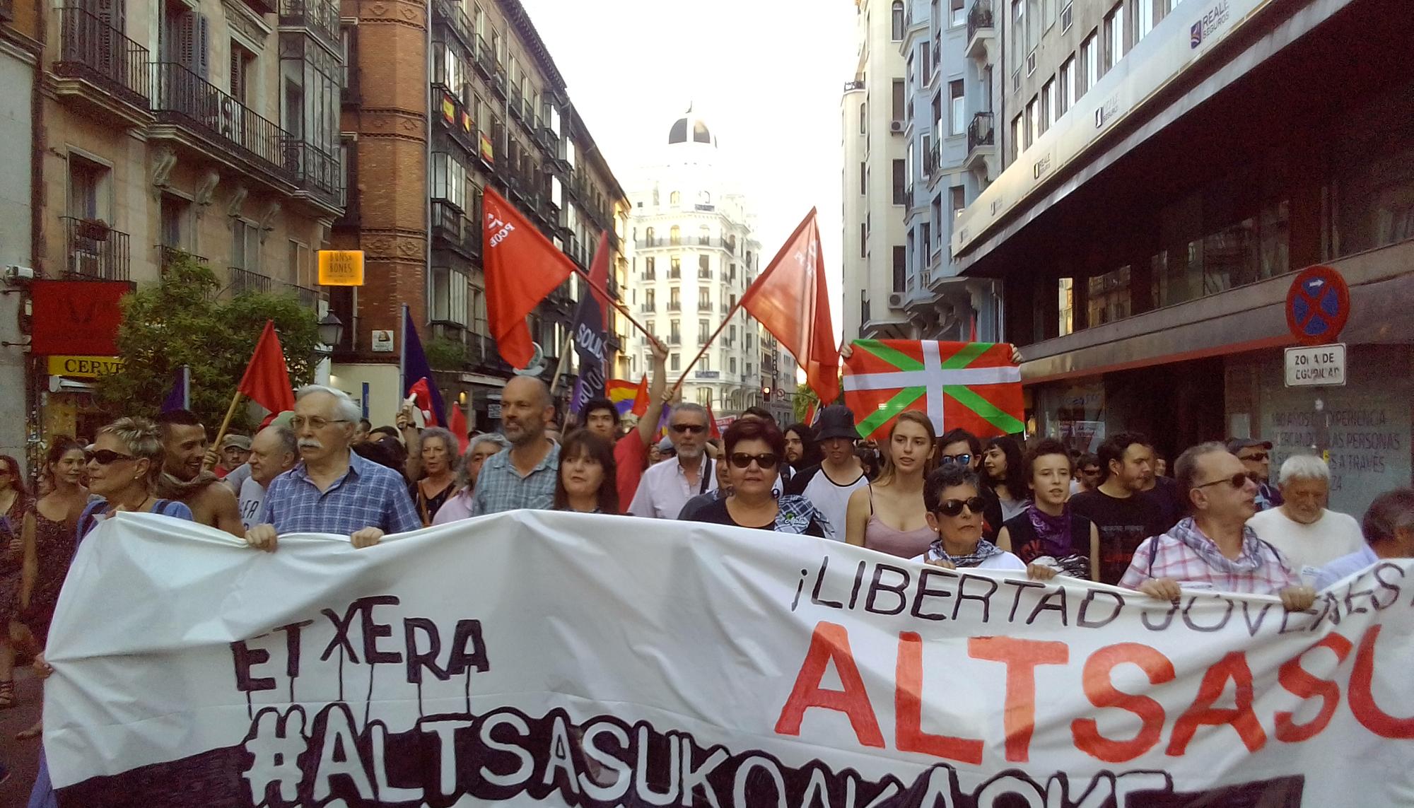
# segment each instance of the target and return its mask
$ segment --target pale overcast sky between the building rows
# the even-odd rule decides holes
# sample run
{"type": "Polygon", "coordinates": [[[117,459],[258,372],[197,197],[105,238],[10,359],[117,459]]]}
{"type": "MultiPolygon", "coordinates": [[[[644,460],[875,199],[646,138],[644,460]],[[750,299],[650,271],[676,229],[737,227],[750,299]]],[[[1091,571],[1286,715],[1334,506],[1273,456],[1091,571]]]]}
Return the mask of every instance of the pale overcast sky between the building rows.
{"type": "Polygon", "coordinates": [[[850,0],[522,0],[621,182],[691,102],[756,212],[762,266],[819,208],[840,312],[840,90],[850,0]]]}

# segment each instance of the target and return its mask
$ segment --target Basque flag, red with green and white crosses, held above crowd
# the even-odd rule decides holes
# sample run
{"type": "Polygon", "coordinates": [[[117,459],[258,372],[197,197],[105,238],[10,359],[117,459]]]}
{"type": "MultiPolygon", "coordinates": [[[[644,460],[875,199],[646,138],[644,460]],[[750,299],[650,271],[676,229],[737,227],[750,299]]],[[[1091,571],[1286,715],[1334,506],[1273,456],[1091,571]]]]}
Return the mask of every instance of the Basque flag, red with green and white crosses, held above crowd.
{"type": "Polygon", "coordinates": [[[1025,431],[1021,369],[1001,342],[858,339],[844,360],[844,403],[861,438],[885,439],[899,412],[926,412],[939,435],[1025,431]]]}

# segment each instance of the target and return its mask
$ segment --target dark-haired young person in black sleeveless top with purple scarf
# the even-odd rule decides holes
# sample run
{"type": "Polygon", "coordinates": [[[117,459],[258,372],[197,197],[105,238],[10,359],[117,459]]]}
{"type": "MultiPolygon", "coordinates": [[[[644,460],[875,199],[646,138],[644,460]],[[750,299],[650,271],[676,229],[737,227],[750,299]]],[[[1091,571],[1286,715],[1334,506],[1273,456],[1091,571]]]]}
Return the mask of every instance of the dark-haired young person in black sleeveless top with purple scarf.
{"type": "Polygon", "coordinates": [[[1027,452],[1027,482],[1031,504],[1011,517],[997,534],[997,547],[1012,551],[1032,578],[1036,568],[1051,575],[1097,581],[1100,531],[1083,516],[1070,513],[1070,453],[1059,441],[1046,438],[1027,452]]]}

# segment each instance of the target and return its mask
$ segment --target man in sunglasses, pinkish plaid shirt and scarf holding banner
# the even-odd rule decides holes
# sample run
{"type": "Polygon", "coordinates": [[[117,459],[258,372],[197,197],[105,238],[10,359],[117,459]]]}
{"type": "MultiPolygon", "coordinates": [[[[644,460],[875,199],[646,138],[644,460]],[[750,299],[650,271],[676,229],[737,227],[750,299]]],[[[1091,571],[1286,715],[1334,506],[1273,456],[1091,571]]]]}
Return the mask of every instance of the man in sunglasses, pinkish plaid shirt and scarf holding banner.
{"type": "Polygon", "coordinates": [[[1174,463],[1178,487],[1193,516],[1144,540],[1120,586],[1176,602],[1181,589],[1278,595],[1290,612],[1315,602],[1281,552],[1257,538],[1247,520],[1257,513],[1257,482],[1217,442],[1200,444],[1174,463]]]}

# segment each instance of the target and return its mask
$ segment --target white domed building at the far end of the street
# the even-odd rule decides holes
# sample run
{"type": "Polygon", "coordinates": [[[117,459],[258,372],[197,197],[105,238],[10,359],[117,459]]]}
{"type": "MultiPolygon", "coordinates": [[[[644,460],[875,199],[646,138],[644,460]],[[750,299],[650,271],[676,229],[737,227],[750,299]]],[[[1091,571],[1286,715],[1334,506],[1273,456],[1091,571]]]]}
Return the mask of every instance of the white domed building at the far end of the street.
{"type": "MultiPolygon", "coordinates": [[[[738,311],[687,370],[764,264],[754,216],[718,157],[711,126],[689,110],[667,129],[658,158],[626,184],[625,302],[667,343],[669,384],[686,372],[683,400],[710,404],[723,418],[762,404],[764,391],[778,384],[793,391],[795,364],[782,362],[776,340],[738,311]]],[[[629,379],[650,372],[642,335],[629,338],[628,355],[629,379]]]]}

